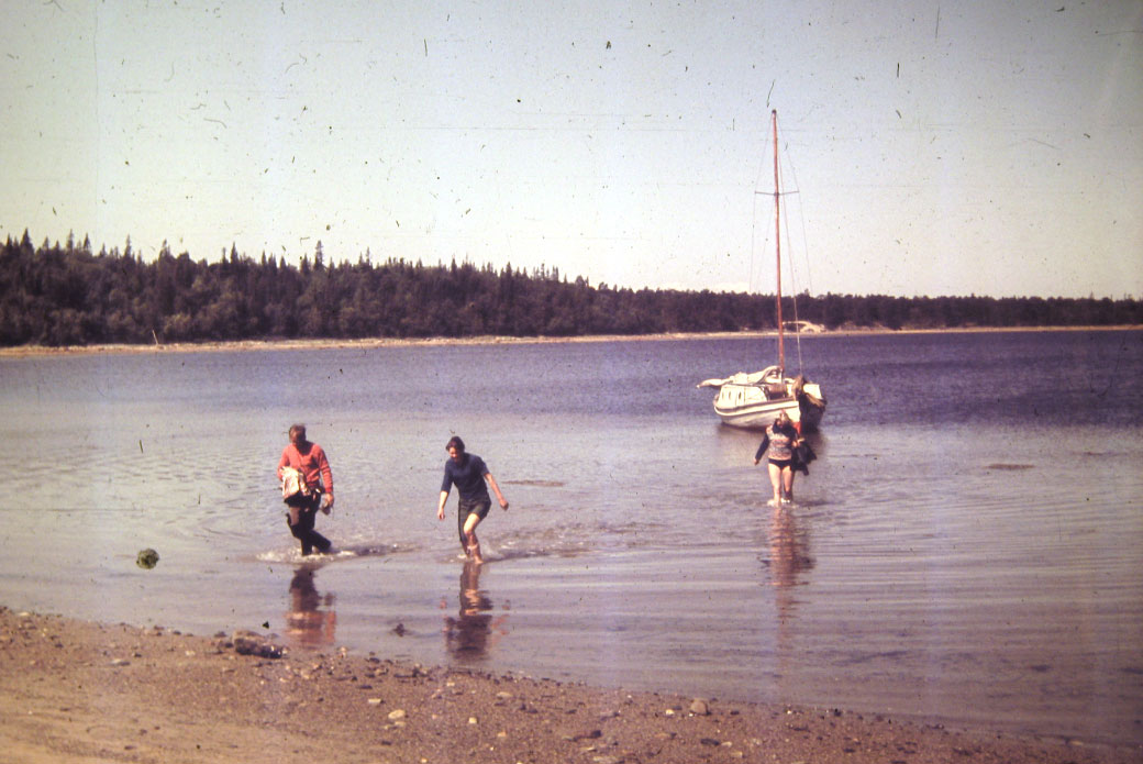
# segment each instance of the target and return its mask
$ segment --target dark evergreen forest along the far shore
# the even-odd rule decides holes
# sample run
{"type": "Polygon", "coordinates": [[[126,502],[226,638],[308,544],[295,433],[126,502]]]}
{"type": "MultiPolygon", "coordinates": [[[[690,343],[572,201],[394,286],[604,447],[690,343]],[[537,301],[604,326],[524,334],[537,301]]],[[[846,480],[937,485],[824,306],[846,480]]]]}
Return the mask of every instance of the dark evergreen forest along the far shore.
{"type": "MultiPolygon", "coordinates": [[[[1138,299],[783,299],[785,320],[839,328],[1065,327],[1143,324],[1138,299]]],[[[559,269],[497,270],[400,258],[327,263],[319,241],[298,265],[240,255],[145,262],[130,239],[98,254],[90,240],[25,231],[0,252],[0,347],[227,340],[582,336],[773,329],[774,295],[630,289],[569,280],[559,269]]]]}

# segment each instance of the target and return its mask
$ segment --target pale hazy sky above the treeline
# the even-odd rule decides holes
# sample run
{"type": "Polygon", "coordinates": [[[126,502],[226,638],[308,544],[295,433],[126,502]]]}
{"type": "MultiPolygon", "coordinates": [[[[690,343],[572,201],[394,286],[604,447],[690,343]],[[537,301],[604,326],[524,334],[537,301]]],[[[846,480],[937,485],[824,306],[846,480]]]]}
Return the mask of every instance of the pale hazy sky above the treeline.
{"type": "Polygon", "coordinates": [[[0,238],[1143,297],[1143,0],[6,0],[0,238]]]}

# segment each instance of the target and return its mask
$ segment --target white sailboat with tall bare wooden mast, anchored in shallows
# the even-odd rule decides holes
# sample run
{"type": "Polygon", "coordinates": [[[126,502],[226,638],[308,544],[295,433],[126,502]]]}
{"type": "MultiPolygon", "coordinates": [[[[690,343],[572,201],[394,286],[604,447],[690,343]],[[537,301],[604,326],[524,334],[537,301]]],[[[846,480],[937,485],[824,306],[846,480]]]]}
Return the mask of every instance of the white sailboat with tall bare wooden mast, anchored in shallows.
{"type": "MultiPolygon", "coordinates": [[[[785,365],[786,324],[782,320],[782,239],[778,184],[778,112],[770,112],[774,135],[774,245],[777,258],[777,289],[775,313],[778,329],[777,364],[760,372],[737,372],[724,379],[703,380],[700,388],[716,388],[714,413],[724,424],[762,429],[774,423],[780,412],[785,412],[799,431],[816,430],[825,414],[825,390],[805,376],[789,376],[785,365]]],[[[797,324],[796,324],[797,326],[797,324]]]]}

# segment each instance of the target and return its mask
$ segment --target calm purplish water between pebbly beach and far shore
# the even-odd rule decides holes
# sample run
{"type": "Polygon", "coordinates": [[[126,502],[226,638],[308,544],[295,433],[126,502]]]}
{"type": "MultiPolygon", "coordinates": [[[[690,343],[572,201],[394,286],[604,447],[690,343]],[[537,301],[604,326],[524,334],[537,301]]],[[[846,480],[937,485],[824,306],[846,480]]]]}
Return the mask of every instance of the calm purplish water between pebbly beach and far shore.
{"type": "Polygon", "coordinates": [[[777,512],[694,388],[758,345],[2,358],[0,603],[1143,741],[1143,333],[804,339],[830,407],[777,512]],[[274,477],[294,421],[336,484],[313,565],[274,477]],[[511,502],[480,571],[455,496],[435,518],[454,433],[511,502]]]}

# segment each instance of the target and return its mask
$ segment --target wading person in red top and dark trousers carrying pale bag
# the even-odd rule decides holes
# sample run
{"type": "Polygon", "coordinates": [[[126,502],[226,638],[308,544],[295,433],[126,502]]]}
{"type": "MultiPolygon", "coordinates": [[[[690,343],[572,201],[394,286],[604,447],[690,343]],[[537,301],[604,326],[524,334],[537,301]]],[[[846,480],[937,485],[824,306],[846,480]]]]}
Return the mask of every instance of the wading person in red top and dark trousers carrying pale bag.
{"type": "Polygon", "coordinates": [[[318,510],[326,515],[334,508],[334,473],[326,452],[305,438],[305,425],[289,429],[289,445],[278,461],[278,479],[282,482],[282,499],[288,511],[286,523],[290,533],[302,542],[302,556],[327,552],[329,539],[313,530],[318,510]],[[325,503],[322,503],[325,502],[325,503]]]}

